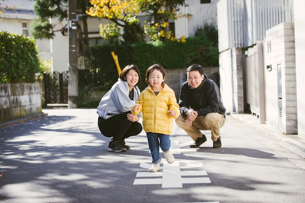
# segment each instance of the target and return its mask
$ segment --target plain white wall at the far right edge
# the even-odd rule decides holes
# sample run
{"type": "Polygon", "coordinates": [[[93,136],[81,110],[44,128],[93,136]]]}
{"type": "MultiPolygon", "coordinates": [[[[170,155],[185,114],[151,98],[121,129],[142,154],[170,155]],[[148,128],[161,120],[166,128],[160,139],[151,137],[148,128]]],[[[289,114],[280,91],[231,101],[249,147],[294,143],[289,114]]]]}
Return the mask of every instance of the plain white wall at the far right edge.
{"type": "Polygon", "coordinates": [[[298,136],[305,138],[305,1],[294,0],[293,4],[298,105],[298,136]]]}

